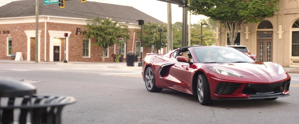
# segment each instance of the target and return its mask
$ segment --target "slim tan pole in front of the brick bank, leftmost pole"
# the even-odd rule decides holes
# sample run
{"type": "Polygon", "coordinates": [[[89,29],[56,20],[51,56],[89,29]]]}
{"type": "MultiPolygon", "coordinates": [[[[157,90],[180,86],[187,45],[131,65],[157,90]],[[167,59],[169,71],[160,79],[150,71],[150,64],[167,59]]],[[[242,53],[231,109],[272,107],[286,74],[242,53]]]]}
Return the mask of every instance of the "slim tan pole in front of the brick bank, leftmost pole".
{"type": "Polygon", "coordinates": [[[35,63],[38,63],[38,0],[35,3],[35,63]]]}

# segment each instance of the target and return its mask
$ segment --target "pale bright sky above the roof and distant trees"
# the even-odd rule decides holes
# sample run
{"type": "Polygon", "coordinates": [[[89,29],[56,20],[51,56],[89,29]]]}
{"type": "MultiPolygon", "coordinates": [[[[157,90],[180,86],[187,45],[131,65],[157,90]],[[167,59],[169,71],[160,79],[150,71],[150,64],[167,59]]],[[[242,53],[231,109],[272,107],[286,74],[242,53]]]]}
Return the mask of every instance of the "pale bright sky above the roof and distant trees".
{"type": "MultiPolygon", "coordinates": [[[[18,1],[18,0],[0,0],[0,6],[5,5],[5,3],[9,3],[12,1],[18,1]]],[[[167,23],[167,3],[166,2],[161,2],[158,0],[87,0],[87,1],[131,6],[162,22],[167,23]]],[[[65,6],[67,6],[67,4],[65,6]]],[[[172,4],[171,12],[172,12],[172,23],[175,23],[177,21],[182,22],[183,20],[182,7],[178,7],[178,5],[172,4]]],[[[207,19],[207,17],[203,15],[198,15],[198,16],[191,15],[191,24],[196,24],[201,19],[207,19]]],[[[189,13],[188,13],[188,23],[189,23],[189,13]]]]}

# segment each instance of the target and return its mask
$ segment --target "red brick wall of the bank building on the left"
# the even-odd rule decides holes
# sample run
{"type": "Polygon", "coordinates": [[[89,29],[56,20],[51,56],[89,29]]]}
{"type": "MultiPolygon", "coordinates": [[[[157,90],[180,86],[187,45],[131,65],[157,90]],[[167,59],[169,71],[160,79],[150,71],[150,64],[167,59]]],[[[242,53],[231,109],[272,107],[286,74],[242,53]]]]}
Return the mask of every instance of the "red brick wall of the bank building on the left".
{"type": "MultiPolygon", "coordinates": [[[[44,37],[44,26],[45,22],[39,23],[39,30],[41,30],[40,36],[40,61],[44,61],[44,46],[45,46],[45,37],[44,37]]],[[[83,58],[83,39],[84,35],[78,33],[76,35],[76,29],[80,28],[82,25],[75,24],[63,24],[63,23],[47,23],[47,40],[46,40],[46,60],[50,60],[50,35],[48,30],[52,31],[71,31],[72,34],[69,35],[69,61],[82,61],[82,62],[100,62],[102,61],[102,50],[101,47],[93,45],[95,40],[91,40],[90,47],[90,57],[83,58]]],[[[0,59],[10,59],[7,56],[7,37],[12,37],[12,53],[22,52],[23,59],[27,60],[27,36],[24,31],[26,30],[35,30],[35,23],[18,23],[18,24],[5,24],[0,25],[0,31],[9,31],[9,34],[0,34],[0,59]]],[[[136,29],[130,29],[130,39],[126,41],[126,51],[125,53],[136,50],[136,40],[137,34],[135,34],[135,43],[133,46],[134,32],[136,29]]],[[[34,46],[35,38],[31,38],[31,61],[34,61],[34,46]]],[[[61,38],[61,61],[64,60],[64,38],[61,38]]],[[[119,46],[116,45],[115,53],[119,53],[119,46]]],[[[146,53],[150,53],[150,48],[144,48],[142,58],[145,57],[146,53]]],[[[106,62],[113,62],[112,54],[114,54],[114,45],[109,47],[108,58],[105,58],[106,62]]],[[[51,56],[53,57],[53,56],[51,56]]],[[[123,59],[125,62],[126,59],[123,59]]],[[[140,61],[140,59],[138,59],[140,61]]]]}

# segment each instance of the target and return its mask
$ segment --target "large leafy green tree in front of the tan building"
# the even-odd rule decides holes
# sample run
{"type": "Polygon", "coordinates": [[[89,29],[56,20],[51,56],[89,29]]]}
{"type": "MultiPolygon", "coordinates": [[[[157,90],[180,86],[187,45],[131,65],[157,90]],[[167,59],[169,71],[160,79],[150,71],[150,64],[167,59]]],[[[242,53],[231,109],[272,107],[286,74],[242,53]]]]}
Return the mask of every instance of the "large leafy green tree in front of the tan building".
{"type": "Polygon", "coordinates": [[[223,24],[229,34],[230,44],[241,26],[263,21],[277,11],[279,0],[189,0],[189,10],[195,15],[205,15],[223,24]]]}

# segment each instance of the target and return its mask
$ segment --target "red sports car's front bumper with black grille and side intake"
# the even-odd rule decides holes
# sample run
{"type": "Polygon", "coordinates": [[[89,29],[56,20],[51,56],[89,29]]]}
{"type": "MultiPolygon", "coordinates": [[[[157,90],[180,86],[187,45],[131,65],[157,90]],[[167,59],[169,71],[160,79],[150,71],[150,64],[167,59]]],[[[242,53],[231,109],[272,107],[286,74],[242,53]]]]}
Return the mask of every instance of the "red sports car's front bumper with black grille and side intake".
{"type": "Polygon", "coordinates": [[[274,83],[209,80],[212,99],[263,99],[289,96],[290,78],[274,83]]]}

